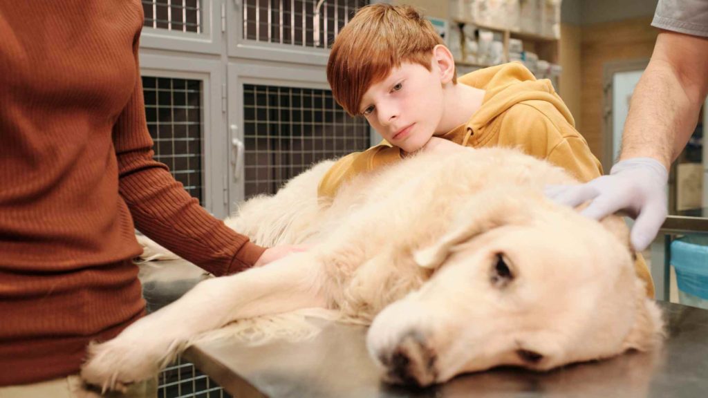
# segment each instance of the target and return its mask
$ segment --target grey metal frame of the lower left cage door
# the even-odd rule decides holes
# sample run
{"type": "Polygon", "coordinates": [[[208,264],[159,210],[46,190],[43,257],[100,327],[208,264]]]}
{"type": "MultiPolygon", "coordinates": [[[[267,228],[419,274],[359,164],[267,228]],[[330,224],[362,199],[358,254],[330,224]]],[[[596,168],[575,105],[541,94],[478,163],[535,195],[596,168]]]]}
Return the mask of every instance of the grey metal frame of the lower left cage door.
{"type": "Polygon", "coordinates": [[[149,76],[163,76],[202,81],[203,135],[202,170],[204,171],[205,208],[215,217],[226,217],[227,187],[219,178],[227,161],[226,130],[222,113],[222,64],[218,60],[193,57],[175,57],[143,51],[140,54],[140,72],[149,76]]]}

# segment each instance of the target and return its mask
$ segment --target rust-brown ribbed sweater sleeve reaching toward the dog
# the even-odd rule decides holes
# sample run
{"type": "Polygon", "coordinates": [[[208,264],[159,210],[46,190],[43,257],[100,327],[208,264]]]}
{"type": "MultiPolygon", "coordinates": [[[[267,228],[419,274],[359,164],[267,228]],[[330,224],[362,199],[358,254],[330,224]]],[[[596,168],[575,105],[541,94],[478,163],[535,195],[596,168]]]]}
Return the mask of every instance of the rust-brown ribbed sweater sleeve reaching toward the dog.
{"type": "Polygon", "coordinates": [[[153,159],[142,80],[135,54],[135,91],[113,127],[119,191],[135,227],[174,253],[215,275],[253,266],[265,251],[212,217],[183,189],[166,165],[153,159]]]}

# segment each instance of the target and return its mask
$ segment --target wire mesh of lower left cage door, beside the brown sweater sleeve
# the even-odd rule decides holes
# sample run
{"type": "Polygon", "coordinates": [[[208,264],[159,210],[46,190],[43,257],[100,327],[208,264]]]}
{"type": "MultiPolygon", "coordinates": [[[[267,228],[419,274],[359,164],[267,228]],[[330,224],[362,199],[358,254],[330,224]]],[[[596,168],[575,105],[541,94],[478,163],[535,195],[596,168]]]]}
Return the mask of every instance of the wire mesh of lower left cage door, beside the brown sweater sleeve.
{"type": "Polygon", "coordinates": [[[142,85],[154,159],[203,206],[202,81],[143,76],[142,85]]]}

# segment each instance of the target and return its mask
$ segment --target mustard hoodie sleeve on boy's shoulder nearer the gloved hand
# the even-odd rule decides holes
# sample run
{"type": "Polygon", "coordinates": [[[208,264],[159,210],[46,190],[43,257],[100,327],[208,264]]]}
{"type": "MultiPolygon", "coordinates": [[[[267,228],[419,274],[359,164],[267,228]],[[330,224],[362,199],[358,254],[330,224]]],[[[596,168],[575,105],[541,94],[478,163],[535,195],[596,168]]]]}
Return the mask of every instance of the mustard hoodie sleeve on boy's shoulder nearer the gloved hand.
{"type": "Polygon", "coordinates": [[[586,140],[556,108],[544,101],[525,101],[503,115],[498,145],[518,147],[526,154],[561,166],[587,182],[603,174],[586,140]]]}

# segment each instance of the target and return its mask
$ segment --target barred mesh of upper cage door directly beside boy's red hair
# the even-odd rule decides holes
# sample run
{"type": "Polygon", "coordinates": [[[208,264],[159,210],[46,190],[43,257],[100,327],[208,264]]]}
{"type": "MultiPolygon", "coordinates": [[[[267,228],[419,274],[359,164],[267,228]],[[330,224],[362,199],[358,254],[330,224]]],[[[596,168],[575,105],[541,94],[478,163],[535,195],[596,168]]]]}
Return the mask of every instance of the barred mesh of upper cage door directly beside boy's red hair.
{"type": "Polygon", "coordinates": [[[329,48],[339,30],[368,0],[244,0],[244,38],[329,48]]]}

